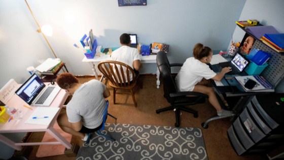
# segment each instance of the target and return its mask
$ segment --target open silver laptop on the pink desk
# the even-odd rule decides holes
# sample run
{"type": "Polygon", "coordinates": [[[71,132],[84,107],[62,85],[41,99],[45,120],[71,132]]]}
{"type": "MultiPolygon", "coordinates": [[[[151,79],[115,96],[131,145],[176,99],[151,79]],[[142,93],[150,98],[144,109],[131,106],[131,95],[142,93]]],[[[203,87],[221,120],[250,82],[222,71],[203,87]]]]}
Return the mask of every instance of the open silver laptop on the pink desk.
{"type": "Polygon", "coordinates": [[[15,93],[30,106],[49,106],[60,89],[59,86],[46,86],[36,74],[32,74],[15,93]]]}

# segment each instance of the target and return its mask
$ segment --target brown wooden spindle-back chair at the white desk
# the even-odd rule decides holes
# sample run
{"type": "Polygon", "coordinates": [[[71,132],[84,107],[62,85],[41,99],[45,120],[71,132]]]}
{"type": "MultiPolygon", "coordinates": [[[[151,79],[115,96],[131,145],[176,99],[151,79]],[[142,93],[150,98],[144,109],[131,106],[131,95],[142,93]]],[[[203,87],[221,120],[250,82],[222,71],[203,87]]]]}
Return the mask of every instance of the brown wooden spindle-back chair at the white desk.
{"type": "Polygon", "coordinates": [[[130,66],[126,65],[125,63],[114,61],[114,60],[101,61],[98,64],[98,69],[105,77],[107,77],[110,80],[109,85],[114,88],[114,104],[116,104],[116,101],[115,101],[116,94],[127,94],[127,93],[116,93],[117,89],[129,89],[132,95],[134,106],[137,107],[135,97],[134,97],[134,92],[138,84],[137,83],[137,79],[139,77],[138,71],[136,72],[136,75],[135,75],[134,70],[130,66]],[[109,68],[107,67],[107,65],[109,66],[109,68]],[[126,75],[124,75],[125,70],[126,70],[126,75]],[[117,74],[115,74],[114,71],[116,71],[117,74]],[[132,74],[131,83],[130,83],[131,80],[129,77],[130,74],[132,74]]]}

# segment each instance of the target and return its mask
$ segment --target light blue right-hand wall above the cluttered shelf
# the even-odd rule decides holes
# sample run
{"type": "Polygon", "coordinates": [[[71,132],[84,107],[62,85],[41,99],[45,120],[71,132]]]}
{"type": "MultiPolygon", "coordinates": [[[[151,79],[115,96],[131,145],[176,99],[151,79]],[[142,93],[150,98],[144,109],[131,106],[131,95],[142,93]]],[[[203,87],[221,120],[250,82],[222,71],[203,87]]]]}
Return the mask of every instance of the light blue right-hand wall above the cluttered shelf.
{"type": "MultiPolygon", "coordinates": [[[[263,25],[272,25],[280,33],[284,33],[284,1],[283,0],[247,0],[241,12],[239,21],[257,19],[263,25]]],[[[241,42],[244,31],[238,26],[235,27],[234,37],[241,42]],[[240,40],[239,40],[240,39],[240,40]]],[[[276,92],[284,92],[284,81],[276,88],[276,92]]]]}

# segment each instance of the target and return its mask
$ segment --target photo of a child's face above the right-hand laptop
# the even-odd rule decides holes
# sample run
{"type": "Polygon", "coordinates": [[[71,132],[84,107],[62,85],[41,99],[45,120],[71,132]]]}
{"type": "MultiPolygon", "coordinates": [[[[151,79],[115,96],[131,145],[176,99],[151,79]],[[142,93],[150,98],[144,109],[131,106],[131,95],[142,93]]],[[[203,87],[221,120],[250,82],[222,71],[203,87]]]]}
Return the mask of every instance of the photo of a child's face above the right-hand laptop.
{"type": "Polygon", "coordinates": [[[245,34],[240,43],[238,52],[241,54],[249,54],[255,42],[256,40],[252,36],[245,34]]]}

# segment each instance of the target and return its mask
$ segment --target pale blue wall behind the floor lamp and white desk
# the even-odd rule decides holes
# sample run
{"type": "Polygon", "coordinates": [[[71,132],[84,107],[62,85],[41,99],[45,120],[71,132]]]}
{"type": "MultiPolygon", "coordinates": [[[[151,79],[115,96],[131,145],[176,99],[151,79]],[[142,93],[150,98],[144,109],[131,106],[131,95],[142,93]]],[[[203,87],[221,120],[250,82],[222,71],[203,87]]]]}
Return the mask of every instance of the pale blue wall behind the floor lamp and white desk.
{"type": "MultiPolygon", "coordinates": [[[[241,1],[148,0],[147,6],[118,7],[117,0],[27,0],[40,25],[53,27],[47,37],[56,55],[74,75],[92,75],[84,54],[73,46],[90,28],[103,47],[119,47],[123,33],[137,34],[138,42],[170,45],[170,62],[183,63],[196,43],[212,50],[226,49],[245,4],[241,1]]],[[[54,57],[24,1],[0,1],[0,88],[10,79],[23,83],[26,68],[54,57]]],[[[140,74],[155,73],[155,64],[140,74]]],[[[5,145],[0,145],[6,147],[5,145]]],[[[6,152],[5,154],[11,154],[6,152]]],[[[11,154],[12,155],[12,154],[11,154]]]]}

